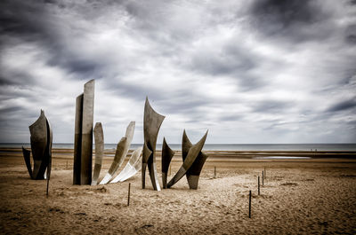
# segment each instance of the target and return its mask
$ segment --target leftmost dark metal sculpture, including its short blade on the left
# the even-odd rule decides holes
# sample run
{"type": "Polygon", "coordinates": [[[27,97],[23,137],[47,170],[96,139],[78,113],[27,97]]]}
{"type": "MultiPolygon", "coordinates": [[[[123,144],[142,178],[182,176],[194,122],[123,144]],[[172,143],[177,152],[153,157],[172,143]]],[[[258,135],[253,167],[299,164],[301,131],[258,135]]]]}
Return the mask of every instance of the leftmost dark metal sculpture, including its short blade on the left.
{"type": "Polygon", "coordinates": [[[53,134],[50,122],[45,117],[43,110],[41,110],[38,119],[28,128],[31,135],[31,151],[34,161],[32,169],[30,151],[22,147],[23,158],[28,168],[28,174],[32,179],[46,178],[48,181],[51,176],[53,134]],[[45,172],[46,174],[44,176],[45,172]]]}

